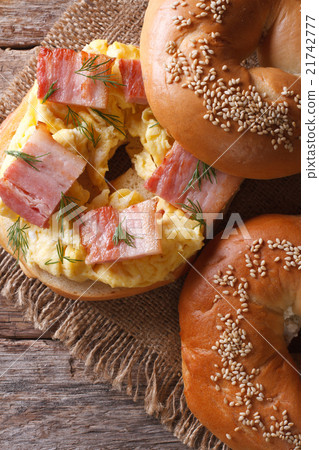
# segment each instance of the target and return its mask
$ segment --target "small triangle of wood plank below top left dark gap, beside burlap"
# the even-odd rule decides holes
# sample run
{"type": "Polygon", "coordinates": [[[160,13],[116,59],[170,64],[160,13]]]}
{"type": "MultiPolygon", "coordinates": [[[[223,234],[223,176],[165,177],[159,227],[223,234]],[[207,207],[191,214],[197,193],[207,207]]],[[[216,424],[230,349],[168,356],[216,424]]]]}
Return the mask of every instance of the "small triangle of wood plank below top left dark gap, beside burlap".
{"type": "MultiPolygon", "coordinates": [[[[1,34],[0,34],[1,36],[1,34]]],[[[35,50],[0,49],[0,95],[28,63],[35,50]]]]}

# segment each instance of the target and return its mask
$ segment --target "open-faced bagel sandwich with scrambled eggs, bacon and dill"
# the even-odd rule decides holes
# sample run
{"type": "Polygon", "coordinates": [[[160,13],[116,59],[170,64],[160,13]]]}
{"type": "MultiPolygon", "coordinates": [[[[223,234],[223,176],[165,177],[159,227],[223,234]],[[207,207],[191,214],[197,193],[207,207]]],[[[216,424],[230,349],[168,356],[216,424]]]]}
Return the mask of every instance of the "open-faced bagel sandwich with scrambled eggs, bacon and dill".
{"type": "Polygon", "coordinates": [[[0,148],[1,245],[75,299],[175,280],[203,246],[205,213],[242,182],[174,141],[148,105],[139,49],[105,40],[40,49],[0,148]]]}

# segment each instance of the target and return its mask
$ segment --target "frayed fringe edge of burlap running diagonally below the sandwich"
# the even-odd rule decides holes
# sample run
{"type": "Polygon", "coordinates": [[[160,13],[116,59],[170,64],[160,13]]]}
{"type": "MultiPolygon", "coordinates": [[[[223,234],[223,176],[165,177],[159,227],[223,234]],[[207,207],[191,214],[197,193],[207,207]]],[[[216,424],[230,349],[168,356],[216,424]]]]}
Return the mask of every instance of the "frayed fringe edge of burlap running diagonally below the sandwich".
{"type": "Polygon", "coordinates": [[[146,348],[88,302],[74,302],[27,278],[15,260],[0,250],[1,294],[22,306],[25,318],[43,333],[53,332],[72,356],[84,361],[99,379],[144,400],[155,416],[184,444],[199,449],[228,447],[206,430],[187,407],[180,374],[165,359],[146,348]]]}

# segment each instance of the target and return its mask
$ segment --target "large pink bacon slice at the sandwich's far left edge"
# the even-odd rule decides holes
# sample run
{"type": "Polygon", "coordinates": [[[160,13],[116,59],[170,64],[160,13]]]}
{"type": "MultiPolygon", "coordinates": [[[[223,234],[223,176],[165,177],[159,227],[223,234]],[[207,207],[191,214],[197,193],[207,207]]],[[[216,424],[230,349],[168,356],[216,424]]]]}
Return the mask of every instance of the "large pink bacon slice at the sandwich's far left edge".
{"type": "Polygon", "coordinates": [[[39,124],[22,151],[39,157],[39,162],[28,165],[17,158],[0,179],[0,196],[4,203],[28,222],[45,228],[61,198],[81,175],[85,160],[65,150],[39,124]],[[41,155],[48,155],[41,157],[41,155]]]}

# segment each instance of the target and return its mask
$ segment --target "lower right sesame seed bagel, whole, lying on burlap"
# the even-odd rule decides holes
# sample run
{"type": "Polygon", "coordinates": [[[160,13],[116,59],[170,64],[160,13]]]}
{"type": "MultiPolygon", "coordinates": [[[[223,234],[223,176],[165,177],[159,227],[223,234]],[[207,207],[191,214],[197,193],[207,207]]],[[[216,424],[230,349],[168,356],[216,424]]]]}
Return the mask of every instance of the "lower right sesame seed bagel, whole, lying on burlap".
{"type": "MultiPolygon", "coordinates": [[[[287,318],[300,316],[300,217],[259,216],[215,238],[180,303],[183,379],[193,414],[233,450],[300,448],[300,376],[287,318]]],[[[296,331],[296,330],[295,330],[296,331]]]]}

